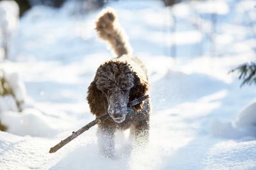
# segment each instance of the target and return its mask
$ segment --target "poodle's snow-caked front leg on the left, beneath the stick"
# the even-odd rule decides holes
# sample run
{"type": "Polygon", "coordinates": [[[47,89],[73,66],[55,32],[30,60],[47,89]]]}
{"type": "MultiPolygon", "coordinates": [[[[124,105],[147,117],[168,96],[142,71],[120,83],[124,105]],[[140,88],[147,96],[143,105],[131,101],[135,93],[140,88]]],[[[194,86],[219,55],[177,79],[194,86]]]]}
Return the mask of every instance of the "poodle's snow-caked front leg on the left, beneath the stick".
{"type": "Polygon", "coordinates": [[[114,141],[115,127],[106,124],[99,124],[97,131],[97,138],[99,143],[100,152],[111,159],[115,155],[115,141],[114,141]]]}

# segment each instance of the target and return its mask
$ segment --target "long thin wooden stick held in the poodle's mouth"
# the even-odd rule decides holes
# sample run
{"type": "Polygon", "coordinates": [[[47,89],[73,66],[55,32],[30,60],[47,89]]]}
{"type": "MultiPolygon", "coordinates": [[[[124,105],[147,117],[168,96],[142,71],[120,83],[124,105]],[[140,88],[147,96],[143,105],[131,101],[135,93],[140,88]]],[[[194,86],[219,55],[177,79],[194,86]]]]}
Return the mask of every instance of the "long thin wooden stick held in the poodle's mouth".
{"type": "MultiPolygon", "coordinates": [[[[141,103],[142,101],[145,101],[145,99],[148,99],[148,95],[142,96],[138,99],[134,99],[133,101],[128,103],[128,106],[135,106],[136,104],[141,103]]],[[[68,138],[64,139],[63,141],[60,141],[60,143],[58,143],[57,145],[53,146],[49,153],[54,153],[57,150],[59,150],[60,148],[62,148],[63,146],[65,146],[67,143],[69,143],[70,141],[72,141],[73,139],[77,138],[77,136],[79,136],[80,134],[82,134],[84,131],[88,131],[91,127],[93,127],[96,124],[99,124],[100,122],[106,120],[109,118],[109,114],[107,113],[106,115],[103,115],[102,117],[96,118],[95,120],[93,120],[92,122],[90,122],[87,125],[84,125],[84,127],[82,127],[81,129],[79,129],[76,132],[72,132],[72,134],[70,136],[68,136],[68,138]]]]}

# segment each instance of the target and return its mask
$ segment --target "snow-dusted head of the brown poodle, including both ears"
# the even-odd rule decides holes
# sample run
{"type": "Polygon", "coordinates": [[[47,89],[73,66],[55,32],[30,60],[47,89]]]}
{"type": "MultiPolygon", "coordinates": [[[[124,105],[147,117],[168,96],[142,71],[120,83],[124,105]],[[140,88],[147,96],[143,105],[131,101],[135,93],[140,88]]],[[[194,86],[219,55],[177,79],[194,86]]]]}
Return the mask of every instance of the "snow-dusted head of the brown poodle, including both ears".
{"type": "MultiPolygon", "coordinates": [[[[117,123],[123,122],[127,115],[127,104],[145,95],[148,84],[140,80],[127,62],[110,60],[102,64],[88,88],[88,103],[96,116],[108,113],[117,123]]],[[[132,109],[140,110],[142,104],[132,109]]]]}

